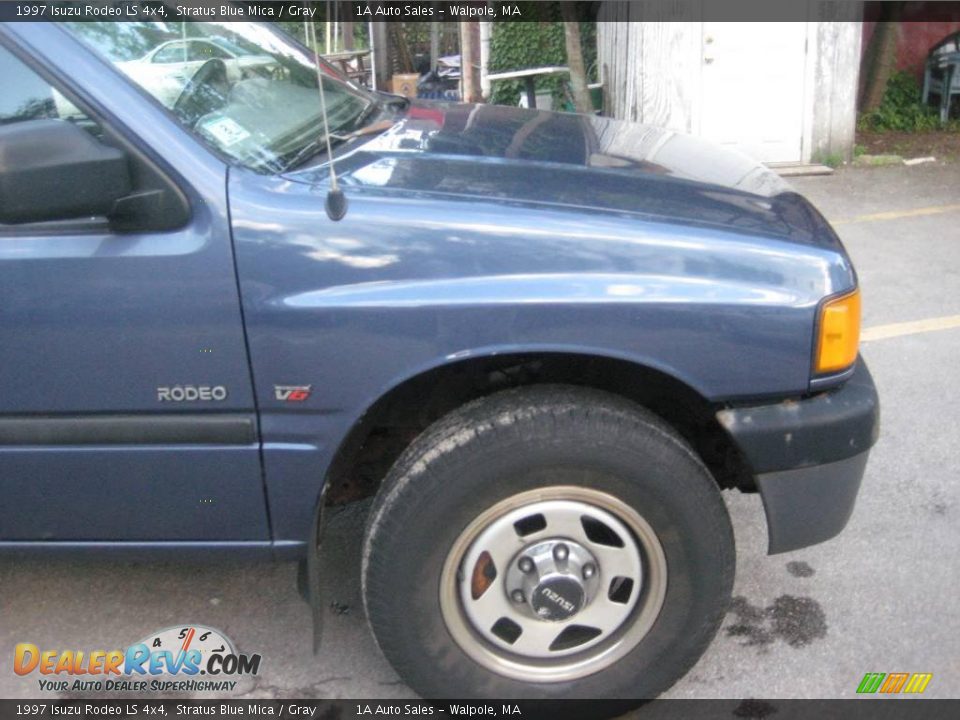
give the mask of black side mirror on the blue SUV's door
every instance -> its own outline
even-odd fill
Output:
[[[72,123],[0,125],[0,223],[106,216],[130,190],[124,153]]]

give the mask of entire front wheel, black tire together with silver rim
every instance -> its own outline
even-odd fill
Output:
[[[427,697],[655,697],[730,597],[715,482],[660,419],[606,393],[499,393],[428,428],[377,496],[364,601]]]

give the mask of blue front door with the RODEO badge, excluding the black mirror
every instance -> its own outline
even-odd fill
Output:
[[[225,167],[206,163],[219,177],[205,171],[201,186],[186,170],[200,160],[179,158],[183,174],[160,165],[48,72],[74,62],[42,60],[13,32],[0,31],[0,129],[80,125],[127,153],[135,189],[172,192],[153,229],[137,227],[136,204],[123,229],[96,217],[0,225],[0,546],[268,540]],[[80,52],[52,25],[23,33]],[[142,129],[159,133],[142,102]]]

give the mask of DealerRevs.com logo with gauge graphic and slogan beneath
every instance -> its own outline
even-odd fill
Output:
[[[242,654],[219,630],[182,625],[151,633],[126,649],[13,651],[13,671],[42,692],[232,691],[260,671],[259,654]]]

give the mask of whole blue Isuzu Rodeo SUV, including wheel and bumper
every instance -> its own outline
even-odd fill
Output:
[[[419,693],[648,698],[726,610],[722,490],[771,553],[846,524],[856,274],[748,158],[257,24],[2,26],[0,88],[0,550],[298,560],[319,618],[324,509],[372,496]]]

